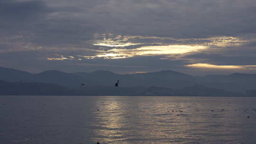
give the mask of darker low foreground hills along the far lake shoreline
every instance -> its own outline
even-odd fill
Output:
[[[226,90],[204,86],[169,89],[163,87],[85,87],[71,89],[57,84],[38,82],[0,81],[0,95],[55,95],[55,96],[244,96]],[[252,91],[255,93],[255,90]],[[252,96],[252,92],[249,96]]]

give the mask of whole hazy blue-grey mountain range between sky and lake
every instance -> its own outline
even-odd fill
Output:
[[[249,93],[253,96],[253,90],[256,90],[256,74],[192,76],[170,70],[134,74],[102,70],[73,73],[50,70],[32,74],[0,67],[0,80],[1,88],[21,90],[11,93],[2,89],[0,95],[30,95],[25,91],[32,88],[37,92],[30,91],[31,95],[237,96]],[[120,80],[120,87],[114,87],[117,80]],[[27,89],[24,85],[27,85]],[[36,86],[41,88],[41,92],[34,88]]]

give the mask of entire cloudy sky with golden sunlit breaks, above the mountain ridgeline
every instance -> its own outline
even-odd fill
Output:
[[[0,66],[256,73],[256,0],[0,0]]]

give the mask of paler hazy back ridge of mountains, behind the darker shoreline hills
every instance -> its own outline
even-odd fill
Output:
[[[81,83],[91,89],[110,87],[120,80],[120,87],[163,87],[183,89],[194,85],[204,85],[212,89],[243,92],[256,89],[256,74],[233,73],[230,75],[192,76],[182,72],[160,71],[135,74],[117,74],[110,71],[61,72],[45,71],[32,74],[15,69],[0,67],[0,80],[8,82],[53,83],[63,87],[83,90]]]

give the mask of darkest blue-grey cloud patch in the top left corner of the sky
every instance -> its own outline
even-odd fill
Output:
[[[0,0],[0,31],[7,36],[24,33],[51,11],[45,2],[39,0]]]

